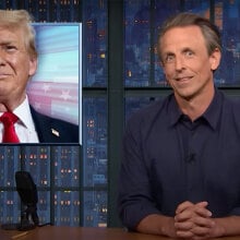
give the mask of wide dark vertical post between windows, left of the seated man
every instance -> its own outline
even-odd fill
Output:
[[[123,131],[123,1],[108,1],[108,227],[119,226],[117,182]]]

